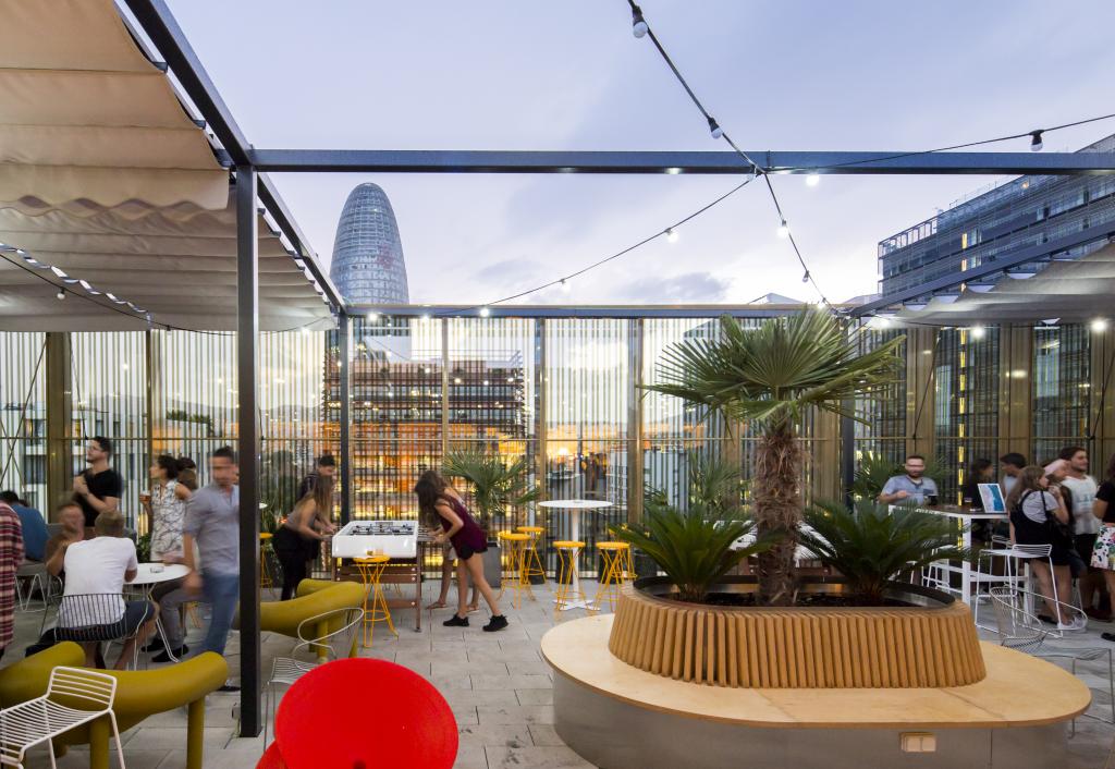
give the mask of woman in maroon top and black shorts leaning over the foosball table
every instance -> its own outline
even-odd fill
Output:
[[[507,618],[500,613],[500,604],[492,587],[484,578],[481,554],[487,550],[487,538],[468,513],[464,500],[449,483],[433,470],[427,470],[415,484],[418,511],[427,527],[440,529],[434,537],[438,545],[452,542],[457,552],[457,613],[446,619],[446,627],[468,626],[468,579],[479,589],[492,609],[492,618],[484,631],[493,633],[507,626]]]

